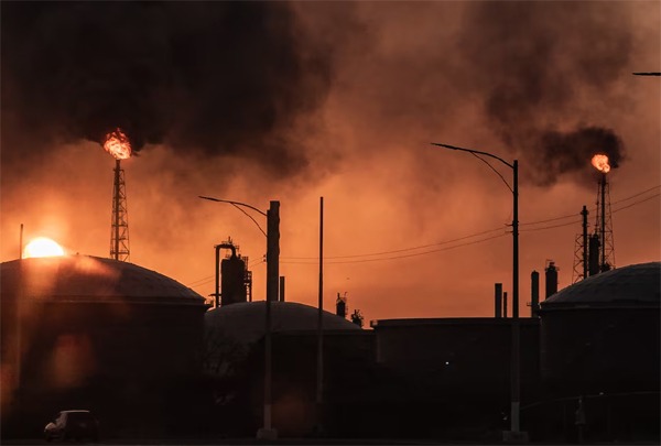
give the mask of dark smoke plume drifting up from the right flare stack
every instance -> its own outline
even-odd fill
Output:
[[[615,83],[629,75],[631,26],[608,2],[475,2],[459,39],[465,69],[488,122],[523,159],[525,178],[583,183],[595,153],[625,160],[614,130],[594,122],[620,107]],[[609,127],[609,126],[606,126]],[[574,128],[561,132],[557,128]]]

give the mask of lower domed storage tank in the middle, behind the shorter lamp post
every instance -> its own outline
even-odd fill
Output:
[[[315,422],[318,308],[271,302],[272,423],[282,436],[303,436]],[[224,435],[253,435],[262,423],[266,301],[236,303],[205,314],[205,371],[212,392],[215,428]],[[371,361],[370,330],[324,311],[324,385],[340,400],[350,384],[336,385]],[[361,362],[362,361],[362,362]],[[339,366],[342,365],[342,366]],[[356,380],[356,382],[359,382]],[[335,387],[334,387],[335,385]],[[335,401],[337,404],[337,401]]]

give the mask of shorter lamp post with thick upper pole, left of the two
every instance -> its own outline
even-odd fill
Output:
[[[267,300],[266,300],[266,316],[264,316],[264,407],[263,407],[263,426],[258,431],[257,436],[263,439],[274,439],[278,437],[278,432],[271,426],[271,383],[273,381],[271,363],[271,302],[278,301],[279,289],[279,265],[280,265],[280,202],[271,202],[269,210],[266,213],[247,205],[246,203],[232,202],[229,199],[219,199],[213,197],[199,196],[199,198],[210,202],[227,203],[243,214],[240,207],[247,207],[260,215],[267,217]],[[249,214],[246,214],[257,227],[264,233],[263,229]]]

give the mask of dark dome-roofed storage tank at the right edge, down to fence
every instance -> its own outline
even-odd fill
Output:
[[[541,303],[542,378],[567,394],[658,391],[661,262],[592,275]]]

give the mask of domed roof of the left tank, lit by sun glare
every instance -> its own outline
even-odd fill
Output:
[[[155,271],[91,255],[31,258],[0,263],[1,294],[48,301],[159,300],[204,304],[204,297]],[[22,281],[20,281],[22,278]]]

